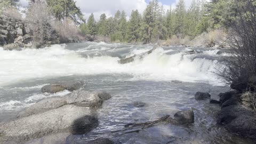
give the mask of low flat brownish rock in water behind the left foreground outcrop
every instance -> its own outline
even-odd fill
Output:
[[[74,91],[80,89],[84,85],[83,82],[67,81],[57,82],[51,85],[45,85],[42,87],[42,92],[56,93],[64,90]]]

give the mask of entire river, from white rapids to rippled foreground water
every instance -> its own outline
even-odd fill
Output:
[[[97,137],[120,143],[253,143],[237,138],[216,125],[220,107],[196,101],[197,91],[209,92],[212,99],[229,91],[214,75],[228,54],[217,49],[161,47],[143,59],[121,65],[118,60],[147,52],[154,45],[70,43],[45,49],[4,51],[0,47],[0,123],[14,119],[34,103],[70,93],[41,92],[41,87],[58,81],[83,81],[88,91],[112,95],[98,110],[99,126],[85,135],[68,135],[66,143],[83,143]],[[191,50],[199,54],[184,53]],[[133,102],[145,102],[137,108]],[[193,109],[195,123],[187,126],[158,124],[139,133],[113,133],[128,123],[154,121],[179,110]],[[37,139],[35,141],[39,141]],[[33,142],[32,142],[33,143]]]

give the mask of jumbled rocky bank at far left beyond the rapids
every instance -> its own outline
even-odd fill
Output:
[[[0,17],[0,46],[4,50],[21,50],[22,48],[42,48],[51,44],[77,42],[76,39],[65,38],[49,24],[45,29],[43,41],[34,41],[33,31],[29,23],[22,19]]]

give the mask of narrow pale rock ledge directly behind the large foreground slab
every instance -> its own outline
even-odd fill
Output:
[[[26,110],[19,113],[17,117],[21,118],[34,114],[44,113],[45,111],[59,108],[64,105],[67,105],[66,99],[64,98],[45,99],[28,107]]]

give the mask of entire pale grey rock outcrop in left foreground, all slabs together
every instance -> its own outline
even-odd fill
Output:
[[[62,98],[42,100],[22,111],[18,119],[0,124],[0,143],[28,141],[58,132],[87,133],[98,125],[94,108],[109,95],[76,90]]]

